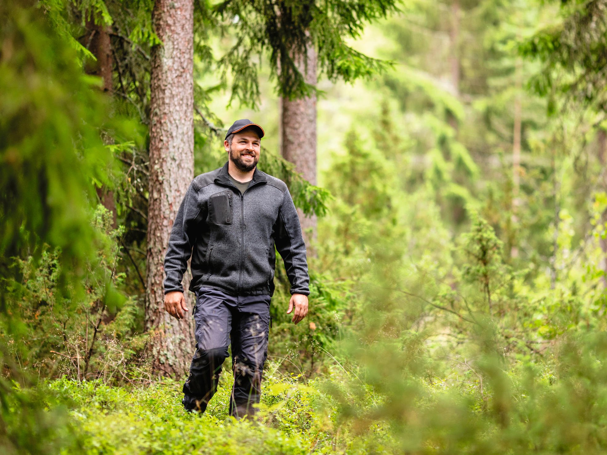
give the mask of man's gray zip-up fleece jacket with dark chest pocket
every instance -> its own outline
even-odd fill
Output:
[[[206,286],[232,295],[272,295],[274,246],[291,294],[309,295],[305,243],[287,185],[256,169],[240,194],[226,163],[194,178],[181,201],[164,258],[164,293],[183,292],[191,256],[190,291]]]

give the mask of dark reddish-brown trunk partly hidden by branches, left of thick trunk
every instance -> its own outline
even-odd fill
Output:
[[[100,76],[103,80],[101,87],[103,92],[112,93],[112,70],[114,62],[112,60],[112,42],[110,41],[110,27],[108,25],[97,25],[93,19],[87,19],[87,35],[84,37],[88,49],[97,58],[97,61],[88,61],[86,64],[87,74]],[[108,143],[108,138],[103,138],[104,143]],[[101,204],[112,214],[112,225],[117,227],[116,204],[114,203],[114,192],[106,187],[97,188],[97,196]]]

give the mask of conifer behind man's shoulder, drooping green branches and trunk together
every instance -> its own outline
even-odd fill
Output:
[[[317,77],[351,82],[383,69],[384,62],[357,52],[345,40],[393,10],[394,0],[226,0],[217,6],[220,16],[238,26],[237,44],[220,61],[239,68],[232,97],[256,103],[258,66],[251,56],[268,52],[282,98],[282,155],[310,183],[316,183]],[[302,227],[313,230],[315,218],[299,213]]]

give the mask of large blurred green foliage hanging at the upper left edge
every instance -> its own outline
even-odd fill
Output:
[[[106,183],[110,163],[97,133],[103,103],[38,11],[0,8],[0,271],[10,276],[9,258],[41,241],[61,249],[60,280],[77,282],[98,241],[92,180]]]

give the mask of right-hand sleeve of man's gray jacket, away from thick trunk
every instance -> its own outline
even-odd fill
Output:
[[[285,261],[285,270],[291,283],[291,294],[310,295],[304,237],[288,189],[283,196],[274,226],[274,243]]]

